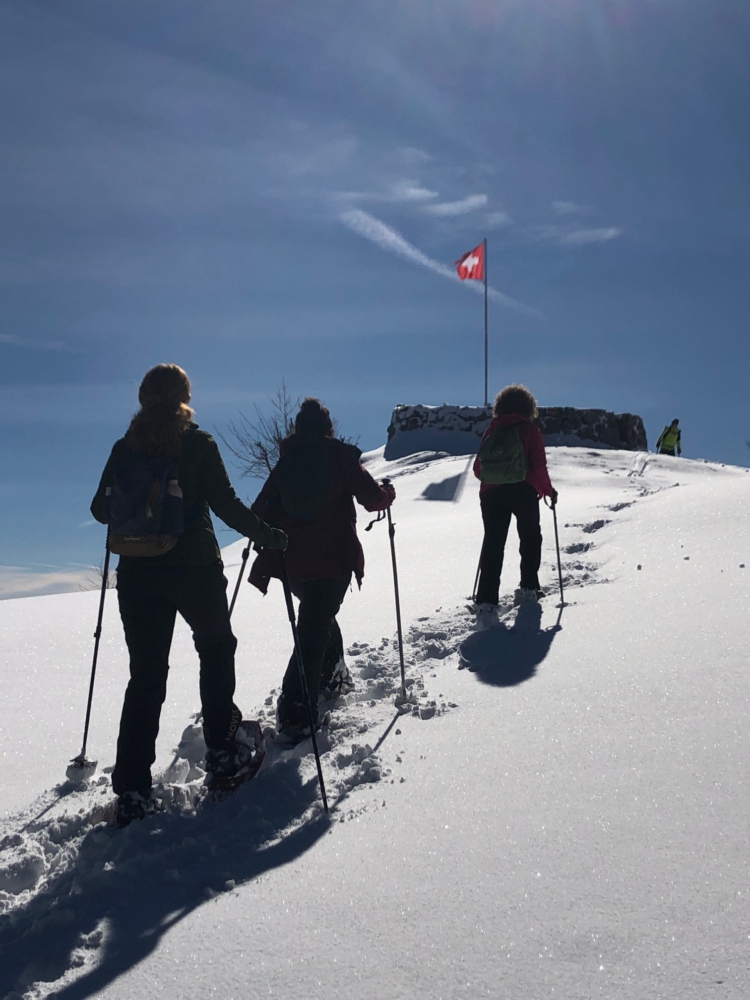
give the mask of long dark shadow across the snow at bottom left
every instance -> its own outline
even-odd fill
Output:
[[[281,761],[197,815],[170,811],[124,830],[90,830],[72,866],[3,918],[0,997],[16,1000],[34,982],[89,967],[54,994],[85,1000],[147,958],[198,906],[308,851],[330,822],[322,811],[300,822],[318,784],[304,781],[299,765]],[[64,849],[64,822],[45,823],[42,835],[59,838]]]

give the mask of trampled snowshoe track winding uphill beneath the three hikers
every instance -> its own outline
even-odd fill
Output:
[[[424,466],[417,463],[407,466],[406,473],[398,470],[396,475],[408,475],[413,468],[421,471],[425,467],[427,463]],[[465,470],[459,477],[449,477],[447,482],[451,490],[441,492],[428,487],[425,493],[452,499],[457,493],[456,478],[461,480],[464,475]],[[619,505],[618,509],[626,506]],[[610,523],[611,519],[600,518],[565,527],[580,529],[585,536]],[[574,590],[596,578],[596,564],[583,563],[579,558],[593,545],[593,542],[573,541],[566,546],[565,551],[575,557],[564,564],[566,588]],[[550,587],[548,601],[555,599],[559,600],[559,595]],[[372,743],[377,741],[370,736],[371,742],[367,742],[370,733],[378,728],[387,733],[389,723],[394,725],[406,712],[427,720],[457,707],[445,699],[426,694],[423,674],[432,669],[433,661],[441,663],[458,654],[460,667],[468,667],[480,678],[486,673],[491,678],[489,683],[501,686],[521,683],[534,675],[546,657],[561,627],[562,611],[560,607],[555,625],[544,630],[540,627],[541,607],[514,608],[510,596],[501,602],[497,621],[491,627],[487,627],[486,622],[478,623],[471,607],[466,605],[421,616],[408,627],[405,636],[411,700],[399,709],[394,708],[399,693],[394,641],[383,638],[377,646],[367,642],[351,644],[347,653],[356,690],[337,699],[330,722],[319,736],[334,808],[333,820],[344,822],[356,817],[368,803],[352,805],[351,792],[362,784],[387,781],[391,774],[390,768],[373,750]],[[269,735],[277,693],[272,690],[255,713]],[[80,963],[86,965],[88,952],[93,949],[92,941],[103,940],[101,934],[91,938],[95,932],[87,929],[92,919],[97,923],[96,916],[92,918],[85,903],[92,893],[102,899],[113,897],[121,892],[123,877],[145,875],[152,883],[158,873],[157,883],[167,879],[172,888],[171,893],[166,894],[168,908],[188,906],[189,910],[185,897],[195,905],[192,890],[196,879],[198,902],[203,901],[204,895],[234,888],[256,877],[260,869],[255,865],[249,870],[244,866],[232,871],[225,867],[217,876],[217,866],[231,867],[235,853],[250,846],[264,852],[269,845],[286,840],[302,826],[319,822],[321,808],[315,792],[311,742],[283,750],[269,738],[268,746],[268,757],[255,787],[238,792],[237,801],[231,808],[229,803],[222,803],[220,812],[206,800],[205,772],[201,767],[205,744],[196,721],[185,729],[174,760],[157,778],[155,797],[164,811],[149,817],[143,824],[122,832],[101,828],[103,823],[111,824],[114,814],[114,797],[106,774],[84,782],[82,788],[66,782],[22,815],[6,822],[0,840],[0,906],[11,916],[9,926],[15,945],[11,976],[14,972],[17,974],[14,986],[28,986],[33,983],[33,978],[28,980],[29,975],[38,974],[33,956],[38,945],[36,928],[40,923],[49,928],[48,956],[56,950],[51,944],[55,940],[53,928],[57,928],[58,933],[62,931],[57,949],[60,957],[55,969],[63,971],[54,976],[55,981],[65,980],[65,954],[72,956],[74,969],[79,969]],[[287,804],[293,803],[296,808],[291,813],[285,810],[279,813],[278,807],[270,806],[274,795],[286,798]],[[218,835],[218,830],[223,833]],[[206,852],[216,859],[209,870],[201,860]],[[80,896],[84,899],[79,899]],[[164,900],[163,891],[159,897]],[[57,927],[59,921],[55,919],[63,900],[67,901],[62,911],[64,930]],[[76,902],[81,910],[80,921],[70,919],[71,906]],[[161,908],[157,907],[157,912],[162,912]],[[103,916],[100,914],[98,920]],[[70,939],[69,928],[74,925],[83,942],[80,945]],[[0,945],[2,943],[0,938]],[[24,947],[27,943],[28,953]],[[48,957],[46,962],[45,969],[51,969],[52,959]],[[50,975],[45,971],[44,978]]]

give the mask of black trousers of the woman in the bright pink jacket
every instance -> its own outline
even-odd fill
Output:
[[[493,486],[491,490],[485,490],[481,494],[480,503],[484,542],[479,563],[477,603],[498,603],[505,542],[512,515],[516,518],[520,541],[520,586],[537,590],[542,562],[542,531],[539,526],[539,498],[536,490],[531,483],[526,482]]]

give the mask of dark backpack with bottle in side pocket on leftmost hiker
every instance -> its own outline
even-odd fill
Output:
[[[183,532],[177,463],[127,449],[109,491],[109,548],[120,556],[160,556]]]

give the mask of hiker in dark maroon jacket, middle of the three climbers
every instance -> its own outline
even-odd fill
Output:
[[[362,585],[364,553],[357,538],[354,498],[368,511],[385,510],[396,495],[379,486],[360,464],[359,448],[334,437],[328,409],[305,399],[293,433],[281,443],[280,458],[253,504],[258,516],[289,537],[286,568],[299,598],[297,629],[305,677],[317,721],[318,696],[333,698],[352,690],[336,615],[351,583]],[[281,576],[278,556],[263,551],[253,563],[250,583],[262,593]],[[309,735],[307,706],[292,652],[277,704],[279,732],[290,742]]]

